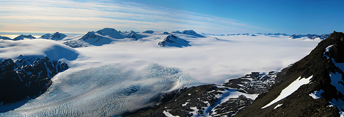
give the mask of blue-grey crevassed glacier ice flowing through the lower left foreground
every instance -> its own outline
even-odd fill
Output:
[[[0,105],[0,117],[120,116],[156,104],[162,93],[173,88],[199,85],[177,68],[154,63],[140,70],[109,64],[66,71],[57,74],[52,81],[39,97]]]

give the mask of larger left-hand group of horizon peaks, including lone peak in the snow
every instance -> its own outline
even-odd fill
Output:
[[[182,32],[175,31],[175,32],[162,32],[162,31],[152,31],[152,30],[146,30],[142,33],[134,32],[134,31],[124,31],[120,32],[113,28],[103,28],[98,31],[89,31],[86,34],[82,36],[71,36],[66,35],[63,33],[55,32],[55,33],[47,33],[42,36],[40,36],[37,39],[49,39],[54,40],[60,43],[63,43],[67,46],[70,46],[72,48],[78,48],[78,47],[87,47],[90,45],[94,46],[101,46],[104,44],[109,44],[113,41],[123,41],[123,40],[130,40],[130,41],[147,41],[146,39],[142,39],[144,37],[150,36],[149,34],[165,34],[167,35],[164,40],[157,43],[160,47],[166,47],[166,46],[174,46],[174,47],[182,47],[182,46],[191,46],[188,44],[186,40],[179,38],[175,35],[170,35],[170,33],[178,33],[178,34],[185,34],[190,35],[190,37],[204,37],[200,34],[197,34],[193,30],[184,30]],[[31,35],[20,35],[18,37],[15,37],[14,39],[10,39],[8,37],[0,37],[0,39],[3,40],[28,40],[28,39],[36,39],[35,37]]]

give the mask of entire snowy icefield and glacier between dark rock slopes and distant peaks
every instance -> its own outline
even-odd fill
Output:
[[[81,48],[46,39],[0,40],[1,59],[48,56],[70,67],[53,77],[41,96],[0,105],[0,116],[120,116],[154,105],[161,93],[180,87],[220,85],[253,71],[279,71],[303,58],[320,41],[282,35],[197,37],[172,33],[191,45],[179,48],[158,46],[168,36],[160,31],[139,34],[144,36],[137,41],[124,38]]]

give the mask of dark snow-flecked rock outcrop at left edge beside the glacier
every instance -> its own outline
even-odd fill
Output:
[[[0,63],[0,103],[13,103],[43,94],[51,85],[51,78],[68,69],[64,62],[48,57],[3,59]]]

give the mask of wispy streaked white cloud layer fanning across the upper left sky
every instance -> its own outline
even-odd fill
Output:
[[[234,19],[116,0],[14,0],[1,4],[2,32],[85,33],[104,27],[224,34],[265,30]]]

